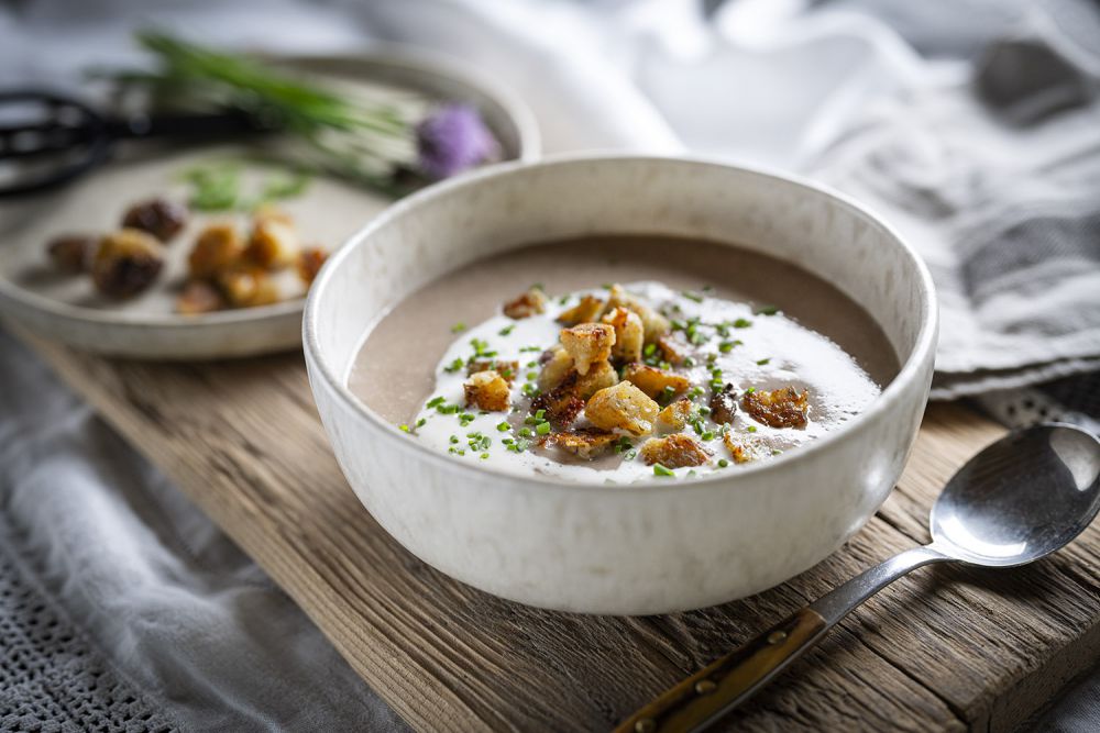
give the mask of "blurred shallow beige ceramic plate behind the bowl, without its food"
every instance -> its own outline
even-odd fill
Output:
[[[387,48],[355,56],[280,58],[323,75],[356,93],[405,107],[468,101],[482,112],[508,159],[538,155],[538,131],[527,108],[510,92],[461,69],[449,59]],[[195,234],[233,214],[195,213],[167,247],[165,273],[147,292],[122,303],[100,297],[86,276],[62,276],[46,260],[45,243],[64,233],[97,234],[118,226],[125,209],[166,195],[186,200],[180,173],[195,165],[239,162],[243,146],[191,147],[117,160],[77,184],[0,207],[0,315],[35,333],[102,354],[139,358],[222,358],[296,347],[304,299],[274,306],[180,315],[174,304]],[[263,164],[243,165],[244,188],[271,174]],[[391,200],[349,184],[315,178],[306,193],[279,204],[302,241],[328,249],[382,211]],[[240,215],[242,221],[244,215]]]

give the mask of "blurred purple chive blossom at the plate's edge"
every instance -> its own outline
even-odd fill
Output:
[[[497,153],[496,138],[469,104],[448,104],[416,127],[420,170],[440,179],[462,173]]]

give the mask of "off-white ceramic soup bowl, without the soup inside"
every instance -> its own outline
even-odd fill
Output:
[[[901,370],[864,413],[779,458],[632,486],[494,473],[428,449],[348,389],[367,327],[417,288],[494,253],[594,233],[701,237],[795,263],[872,314]],[[485,168],[395,204],[324,266],[304,341],[340,466],[409,552],[522,603],[648,614],[780,584],[870,519],[916,435],[936,325],[927,269],[843,196],[703,160],[603,156]]]

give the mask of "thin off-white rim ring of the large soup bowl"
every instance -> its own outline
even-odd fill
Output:
[[[917,276],[916,285],[924,311],[924,315],[921,320],[921,326],[917,331],[916,341],[909,357],[905,358],[901,368],[898,370],[898,374],[890,381],[890,384],[887,385],[886,389],[883,389],[875,398],[866,410],[842,424],[837,430],[828,432],[807,445],[801,445],[798,451],[784,454],[776,460],[743,466],[736,471],[695,477],[690,481],[659,482],[656,480],[639,480],[632,484],[608,484],[606,481],[573,480],[538,474],[532,474],[531,476],[514,475],[499,470],[493,470],[481,466],[480,464],[463,462],[454,458],[453,456],[433,451],[417,441],[410,441],[407,433],[398,430],[396,425],[389,424],[373,408],[363,402],[363,400],[351,391],[348,387],[346,379],[341,378],[340,375],[337,375],[333,371],[330,364],[328,364],[324,359],[320,347],[320,341],[317,335],[320,323],[319,302],[323,297],[329,280],[334,277],[334,273],[340,268],[341,263],[350,257],[351,253],[356,247],[363,246],[363,243],[367,241],[377,230],[389,225],[392,221],[405,215],[410,210],[430,206],[430,203],[436,199],[449,196],[452,191],[462,188],[476,187],[486,179],[521,176],[525,171],[531,169],[546,169],[558,166],[602,162],[612,164],[614,164],[614,162],[656,164],[674,163],[689,164],[693,166],[728,168],[777,180],[783,184],[794,184],[795,186],[800,186],[816,193],[822,193],[832,198],[840,206],[847,207],[856,214],[882,229],[887,234],[893,237],[894,242],[902,248],[904,254],[910,257],[915,266]],[[862,304],[860,303],[860,306]],[[912,247],[912,245],[910,245],[909,242],[902,237],[893,226],[887,223],[870,208],[857,202],[854,198],[842,193],[827,185],[820,184],[798,175],[791,175],[785,171],[728,163],[718,158],[705,156],[585,152],[551,155],[536,163],[510,160],[492,166],[485,166],[472,173],[463,174],[455,178],[429,186],[387,208],[381,214],[367,222],[362,229],[351,235],[351,237],[343,245],[341,245],[340,248],[332,256],[330,256],[321,267],[321,270],[318,273],[306,299],[306,310],[301,321],[301,343],[307,364],[312,367],[309,370],[311,375],[310,379],[314,379],[314,375],[323,379],[326,386],[332,390],[342,408],[350,409],[356,420],[365,420],[372,429],[377,429],[377,432],[384,436],[382,440],[393,441],[393,445],[398,451],[409,448],[418,458],[436,464],[444,470],[453,470],[457,474],[469,476],[471,479],[485,479],[486,477],[492,477],[496,479],[496,481],[493,482],[507,482],[510,485],[510,488],[514,489],[519,487],[522,487],[524,489],[538,487],[540,490],[552,489],[565,492],[582,491],[590,495],[593,491],[630,495],[639,491],[651,492],[675,490],[678,492],[684,492],[708,490],[715,485],[724,486],[730,482],[737,482],[738,480],[745,480],[749,477],[755,477],[761,471],[776,470],[779,467],[787,466],[792,463],[804,462],[824,451],[827,451],[834,443],[847,438],[851,433],[864,427],[873,417],[886,412],[902,399],[904,392],[908,388],[910,388],[911,382],[916,380],[924,370],[925,362],[930,358],[930,356],[935,358],[938,322],[939,306],[936,299],[935,285],[932,280],[932,274],[928,270],[927,265]],[[370,325],[371,323],[364,323],[364,329]],[[361,341],[360,347],[362,343],[363,342]],[[484,480],[482,482],[484,484]]]

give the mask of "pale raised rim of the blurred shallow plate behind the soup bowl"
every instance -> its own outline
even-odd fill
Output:
[[[506,163],[534,163],[541,157],[542,133],[535,113],[527,102],[512,89],[483,74],[462,59],[454,59],[447,54],[422,49],[400,43],[377,42],[360,51],[344,53],[267,53],[257,54],[276,64],[360,64],[374,67],[398,68],[425,76],[443,77],[451,81],[476,89],[505,112],[515,126],[517,157]],[[426,187],[428,188],[428,187]],[[48,196],[48,195],[47,195]],[[388,210],[388,208],[387,208]],[[384,212],[383,212],[384,213]],[[380,214],[381,215],[381,214]],[[343,244],[350,244],[358,236],[356,231]],[[12,314],[25,322],[24,313],[32,318],[51,319],[66,326],[81,327],[87,325],[109,326],[120,332],[141,332],[146,330],[165,330],[174,334],[188,331],[208,331],[219,326],[272,322],[279,319],[298,318],[305,312],[306,297],[290,298],[268,306],[242,308],[233,310],[204,313],[200,318],[179,313],[143,313],[117,311],[111,309],[88,308],[43,296],[33,290],[20,287],[11,278],[0,275],[0,313],[3,307],[10,307]],[[22,311],[22,312],[20,312]]]

